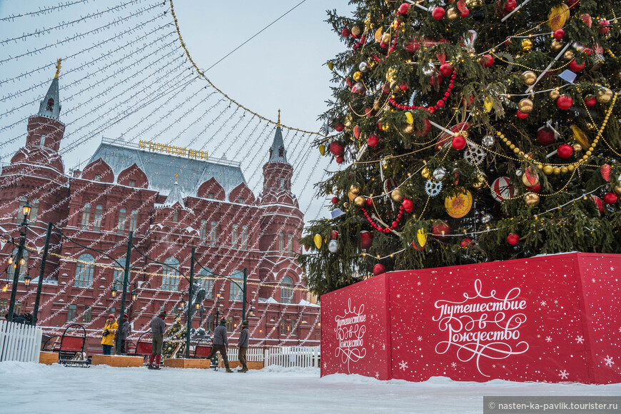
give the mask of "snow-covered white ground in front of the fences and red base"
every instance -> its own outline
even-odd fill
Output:
[[[9,413],[483,413],[483,395],[621,395],[621,384],[380,381],[316,368],[249,373],[0,363]]]

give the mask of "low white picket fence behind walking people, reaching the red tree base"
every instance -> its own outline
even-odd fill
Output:
[[[239,359],[238,348],[228,348],[228,360]],[[248,348],[248,362],[263,362],[264,367],[281,365],[282,367],[319,368],[320,350],[318,346],[281,346],[277,348]]]

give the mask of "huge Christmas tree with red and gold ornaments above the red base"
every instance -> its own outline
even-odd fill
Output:
[[[402,269],[621,253],[621,4],[352,0],[316,144],[314,293]]]

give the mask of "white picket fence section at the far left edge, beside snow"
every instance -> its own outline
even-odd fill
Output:
[[[0,320],[0,361],[39,362],[41,328]]]

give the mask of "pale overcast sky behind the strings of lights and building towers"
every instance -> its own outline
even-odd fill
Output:
[[[77,1],[0,0],[0,19]],[[39,99],[54,77],[54,62],[63,58],[60,99],[66,133],[61,155],[66,171],[84,168],[104,136],[146,139],[241,161],[248,183],[258,193],[273,130],[253,129],[247,122],[250,117],[240,118],[242,112],[234,113],[233,108],[220,111],[218,94],[209,95],[213,90],[206,88],[206,81],[194,79],[196,74],[181,56],[170,12],[163,14],[169,8],[165,2],[84,0],[60,11],[0,21],[0,161],[10,161],[24,145],[26,119],[38,111]],[[207,69],[298,3],[176,0],[175,10],[194,61]],[[108,11],[118,4],[126,6]],[[326,9],[348,14],[351,6],[345,0],[306,0],[207,76],[261,116],[276,121],[280,108],[283,124],[318,131],[317,117],[330,99],[331,74],[325,61],[343,51],[339,36],[325,22]],[[59,29],[28,36],[56,26]],[[86,32],[92,33],[82,36]],[[39,51],[26,53],[34,50]],[[11,80],[19,75],[24,76]],[[211,121],[213,126],[208,125]],[[293,186],[303,211],[314,193],[312,184],[327,167],[326,158],[319,161],[318,151],[310,151],[312,139],[285,133],[288,160],[304,178]],[[307,219],[321,208],[310,210]]]

